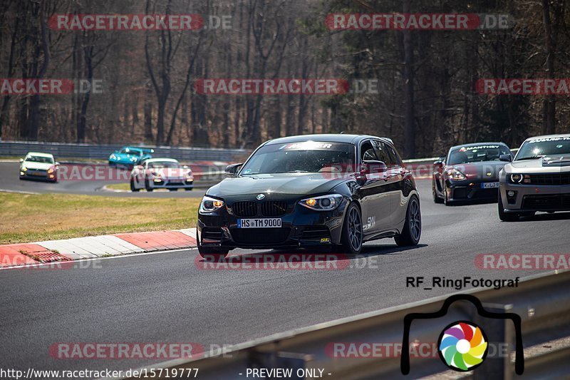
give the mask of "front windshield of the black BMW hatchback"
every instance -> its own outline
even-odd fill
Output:
[[[259,148],[240,174],[346,172],[353,168],[354,158],[354,145],[349,143],[271,144]]]

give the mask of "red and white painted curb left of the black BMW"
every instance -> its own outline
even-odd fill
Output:
[[[196,229],[0,245],[0,268],[196,247]]]

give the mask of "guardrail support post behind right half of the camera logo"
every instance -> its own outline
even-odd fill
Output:
[[[485,310],[494,313],[507,313],[512,304],[483,304]],[[507,319],[488,319],[476,314],[472,319],[479,324],[493,344],[489,344],[487,358],[473,371],[474,380],[512,380],[511,352],[514,344],[514,327]],[[489,343],[489,342],[488,342]]]

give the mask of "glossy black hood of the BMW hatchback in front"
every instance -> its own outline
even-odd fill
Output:
[[[276,193],[284,195],[312,195],[328,192],[339,183],[354,178],[345,175],[335,178],[332,173],[279,173],[247,175],[226,178],[207,191],[208,195],[226,197],[232,195]]]

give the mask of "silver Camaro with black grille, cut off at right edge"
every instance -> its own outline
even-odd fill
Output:
[[[499,218],[570,211],[570,134],[527,138],[499,173]]]

